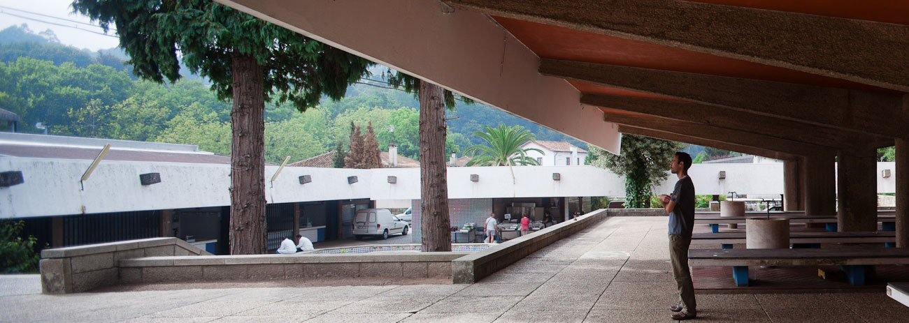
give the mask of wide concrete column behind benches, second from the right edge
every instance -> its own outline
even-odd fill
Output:
[[[877,230],[877,150],[841,150],[837,160],[838,230]]]

